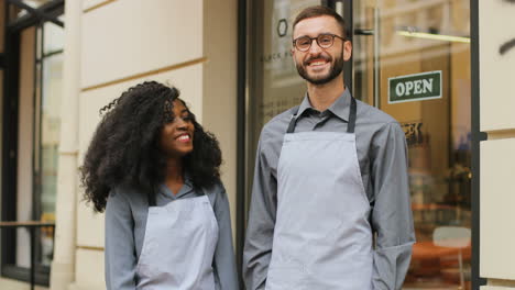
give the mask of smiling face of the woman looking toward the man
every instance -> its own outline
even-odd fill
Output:
[[[173,102],[173,120],[161,131],[160,147],[167,157],[182,158],[190,153],[194,138],[191,113],[179,100]]]

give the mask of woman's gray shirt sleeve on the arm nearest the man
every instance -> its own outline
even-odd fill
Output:
[[[222,191],[217,196],[213,209],[219,232],[213,258],[216,289],[238,290],[238,272],[232,247],[231,214],[223,187]]]

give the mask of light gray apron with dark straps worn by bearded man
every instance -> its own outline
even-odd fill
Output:
[[[277,166],[266,290],[372,289],[370,204],[355,148],[355,107],[352,98],[347,133],[294,133],[292,118]]]

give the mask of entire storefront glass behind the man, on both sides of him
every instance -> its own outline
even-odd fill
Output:
[[[352,7],[355,98],[406,133],[417,243],[403,289],[470,289],[471,71],[468,0],[249,1],[248,174],[263,125],[298,104],[305,81],[289,49],[305,7]],[[349,83],[348,83],[349,85]],[[248,189],[250,201],[250,188]],[[249,205],[249,204],[246,204]]]

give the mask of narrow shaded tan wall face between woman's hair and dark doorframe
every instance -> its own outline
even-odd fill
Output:
[[[235,236],[238,1],[204,2],[204,125],[220,141],[222,181]],[[240,192],[243,194],[243,192]]]

